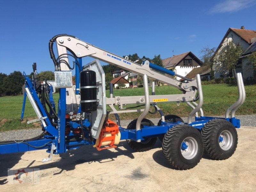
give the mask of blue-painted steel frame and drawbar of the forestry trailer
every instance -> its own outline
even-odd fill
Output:
[[[82,64],[82,61],[80,60],[80,64]],[[25,84],[26,88],[28,88],[35,99],[38,108],[40,109],[43,116],[47,116],[46,112],[38,98],[38,95],[36,93],[34,82],[31,82],[28,76],[24,74],[25,76]],[[33,80],[34,81],[34,80]],[[76,75],[76,81],[79,82],[79,75]],[[79,87],[79,84],[77,84],[77,87]],[[32,150],[40,150],[40,149],[47,149],[47,152],[51,151],[52,144],[56,145],[56,150],[54,154],[61,154],[65,153],[67,150],[75,149],[84,145],[94,145],[95,140],[88,141],[86,139],[80,140],[80,141],[67,141],[68,139],[65,138],[65,127],[66,124],[68,124],[72,128],[76,128],[79,126],[79,122],[73,122],[73,121],[67,121],[66,119],[66,89],[61,88],[60,89],[60,99],[58,102],[58,119],[61,119],[60,125],[54,127],[51,124],[51,121],[49,118],[46,118],[45,121],[47,122],[47,126],[44,128],[46,132],[48,132],[47,135],[44,135],[44,138],[38,139],[38,140],[32,140],[32,141],[15,141],[10,144],[2,144],[0,145],[0,154],[8,154],[8,153],[17,153],[17,152],[25,152],[25,151],[32,151]],[[79,94],[79,92],[76,92],[76,94]],[[51,94],[52,95],[52,92]],[[24,101],[23,101],[23,108],[21,113],[21,119],[23,119],[24,111],[25,111],[25,102],[26,102],[27,94],[24,94]],[[51,100],[53,100],[52,96],[50,96]],[[52,102],[53,107],[54,101]],[[79,109],[80,110],[80,109]],[[220,117],[195,117],[195,121],[188,124],[199,131],[203,128],[204,124],[209,122],[213,119],[226,119],[227,121],[231,122],[234,127],[240,128],[240,120],[236,119],[235,117],[232,118],[220,118]],[[136,134],[136,129],[128,130],[126,128],[119,127],[119,132],[121,133],[121,139],[120,140],[141,140],[143,141],[145,138],[150,137],[159,137],[163,136],[170,128],[177,124],[183,124],[181,122],[178,123],[166,123],[162,122],[161,126],[143,126],[143,129],[141,129],[138,134]],[[185,123],[187,124],[187,123]],[[86,127],[90,126],[90,123],[88,120],[83,121],[83,125]],[[73,138],[74,135],[70,134],[68,137]]]

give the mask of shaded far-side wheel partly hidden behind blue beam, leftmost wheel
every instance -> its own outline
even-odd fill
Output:
[[[127,129],[136,129],[136,123],[138,119],[134,119],[129,125],[127,126]],[[143,129],[143,126],[154,126],[152,121],[148,119],[142,119],[140,128]],[[148,151],[153,148],[153,146],[156,143],[157,138],[147,138],[144,141],[137,142],[133,140],[126,140],[128,145],[133,148],[137,152],[143,152],[143,151]]]

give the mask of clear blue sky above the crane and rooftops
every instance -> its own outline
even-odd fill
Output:
[[[38,72],[53,71],[48,43],[64,33],[119,56],[200,58],[229,27],[256,30],[255,8],[256,0],[1,0],[0,72],[30,74],[33,62]]]

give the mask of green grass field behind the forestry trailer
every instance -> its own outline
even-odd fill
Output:
[[[151,92],[151,88],[149,90]],[[256,85],[245,86],[246,100],[244,104],[236,111],[237,115],[256,114]],[[226,110],[238,98],[237,86],[230,86],[227,84],[210,84],[203,85],[204,104],[203,110],[205,116],[223,116]],[[171,86],[156,87],[156,95],[161,94],[179,94],[180,91]],[[109,97],[109,90],[106,92]],[[115,96],[139,96],[144,95],[143,88],[134,89],[117,89],[114,90]],[[54,100],[57,103],[59,94],[54,94]],[[26,101],[24,121],[20,122],[20,115],[22,110],[23,96],[6,96],[0,97],[0,132],[16,129],[28,129],[38,127],[40,124],[27,124],[28,120],[36,119],[36,114],[32,108],[29,100]],[[158,106],[167,114],[174,114],[181,117],[188,116],[191,108],[185,103],[158,103]],[[120,114],[121,120],[138,118],[138,113],[123,113]],[[147,118],[160,118],[159,114],[148,114]],[[110,119],[114,116],[110,115]]]

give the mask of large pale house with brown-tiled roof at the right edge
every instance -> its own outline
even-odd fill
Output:
[[[216,69],[220,65],[220,63],[216,62],[217,57],[219,57],[219,54],[226,50],[226,47],[230,42],[233,42],[235,45],[239,44],[243,47],[245,50],[244,54],[240,57],[240,60],[238,61],[240,65],[235,68],[236,73],[241,72],[243,78],[246,80],[248,77],[253,76],[253,70],[252,67],[248,66],[248,56],[255,51],[254,43],[256,38],[256,31],[254,30],[247,30],[242,26],[240,29],[236,28],[229,28],[223,39],[221,40],[218,48],[216,49],[214,60],[215,60],[215,72],[214,76],[215,78],[220,77],[220,72],[218,72]],[[228,74],[228,72],[226,73]]]

